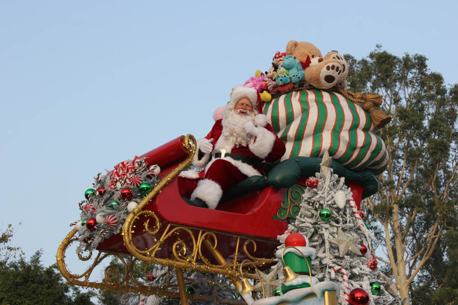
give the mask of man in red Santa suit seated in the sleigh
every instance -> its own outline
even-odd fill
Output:
[[[255,88],[233,89],[223,118],[197,141],[192,164],[205,169],[184,171],[178,177],[180,194],[186,202],[214,209],[224,191],[247,177],[263,175],[265,162],[283,156],[283,142],[260,112],[261,100]]]

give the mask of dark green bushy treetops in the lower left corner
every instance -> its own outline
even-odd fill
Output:
[[[0,304],[93,305],[93,293],[72,287],[55,264],[44,267],[40,257],[37,251],[30,261],[21,257],[0,267]]]

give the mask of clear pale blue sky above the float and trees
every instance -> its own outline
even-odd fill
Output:
[[[292,39],[358,59],[376,44],[423,54],[458,83],[457,11],[455,1],[0,1],[2,230],[21,222],[13,243],[54,263],[94,175],[206,135],[231,88]]]

